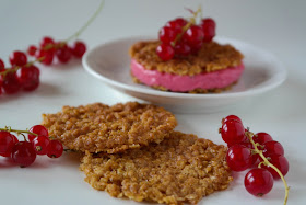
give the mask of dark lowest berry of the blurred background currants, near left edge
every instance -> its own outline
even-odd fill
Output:
[[[11,71],[5,75],[2,88],[7,94],[14,94],[20,91],[21,86],[15,71]]]

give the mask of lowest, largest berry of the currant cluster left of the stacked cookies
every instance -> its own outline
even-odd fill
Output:
[[[12,159],[20,167],[31,166],[36,159],[36,152],[28,141],[19,141],[12,149]]]

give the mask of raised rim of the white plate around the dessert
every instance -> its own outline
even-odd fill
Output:
[[[133,92],[138,92],[138,93],[142,93],[142,94],[150,94],[150,95],[158,95],[158,96],[167,96],[167,98],[177,98],[177,99],[231,99],[231,98],[237,98],[237,96],[249,96],[249,95],[255,95],[255,94],[260,94],[267,91],[270,91],[276,87],[279,87],[280,84],[282,84],[286,77],[287,77],[287,71],[285,69],[284,64],[272,53],[257,47],[252,44],[246,43],[244,41],[239,41],[239,39],[235,39],[235,38],[228,38],[228,37],[223,37],[223,36],[217,36],[216,37],[216,42],[217,41],[226,41],[226,42],[233,42],[233,43],[239,43],[239,44],[244,44],[246,46],[249,46],[256,50],[259,50],[260,53],[264,53],[264,55],[269,55],[269,58],[273,59],[273,62],[276,64],[278,71],[276,75],[272,76],[273,78],[269,79],[269,81],[272,81],[268,84],[266,84],[264,87],[261,88],[255,88],[255,89],[248,89],[245,91],[239,91],[239,92],[231,92],[231,93],[204,93],[204,94],[197,94],[197,93],[180,93],[180,92],[167,92],[167,91],[160,91],[160,90],[154,90],[152,88],[142,88],[142,87],[137,87],[137,84],[134,86],[129,86],[113,79],[109,79],[101,73],[98,73],[97,71],[95,71],[94,68],[92,68],[90,66],[89,62],[89,58],[91,55],[93,55],[93,53],[95,53],[96,50],[101,49],[102,47],[105,47],[107,45],[111,45],[118,42],[126,42],[126,41],[132,41],[134,39],[137,41],[141,41],[141,39],[152,39],[152,38],[156,38],[156,36],[153,35],[132,35],[132,36],[128,36],[128,37],[121,37],[121,38],[116,38],[113,41],[108,41],[108,42],[104,42],[102,44],[98,44],[96,46],[94,46],[93,48],[91,48],[90,50],[87,50],[85,53],[85,55],[82,57],[82,65],[83,68],[93,77],[102,80],[103,82],[105,82],[108,86],[113,86],[116,88],[120,88],[121,90],[129,90],[129,91],[133,91]],[[276,79],[276,80],[272,80],[272,79]],[[263,81],[267,82],[267,81]]]

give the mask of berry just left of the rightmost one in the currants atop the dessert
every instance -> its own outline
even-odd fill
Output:
[[[202,43],[203,37],[203,31],[198,25],[191,25],[184,34],[185,41],[188,43],[189,46],[191,46],[191,48],[196,48],[199,45],[202,45],[200,43]]]

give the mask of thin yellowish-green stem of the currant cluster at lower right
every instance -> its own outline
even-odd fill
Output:
[[[250,143],[252,144],[252,146],[254,146],[255,152],[258,153],[258,155],[261,157],[261,159],[263,160],[263,162],[259,163],[258,167],[260,168],[262,163],[266,164],[266,166],[269,166],[269,167],[271,167],[273,170],[275,170],[275,172],[278,172],[278,174],[281,176],[281,179],[282,179],[282,181],[283,181],[283,183],[284,183],[284,186],[285,186],[284,205],[286,205],[286,203],[287,203],[287,195],[289,195],[289,186],[287,186],[287,183],[286,183],[286,181],[285,181],[285,179],[284,179],[284,175],[282,174],[282,172],[281,172],[275,166],[273,166],[273,164],[263,156],[262,151],[258,149],[258,145],[252,140],[254,134],[252,134],[251,132],[249,132],[249,130],[247,130],[246,134],[247,134],[247,137],[249,138],[249,141],[250,141]]]

